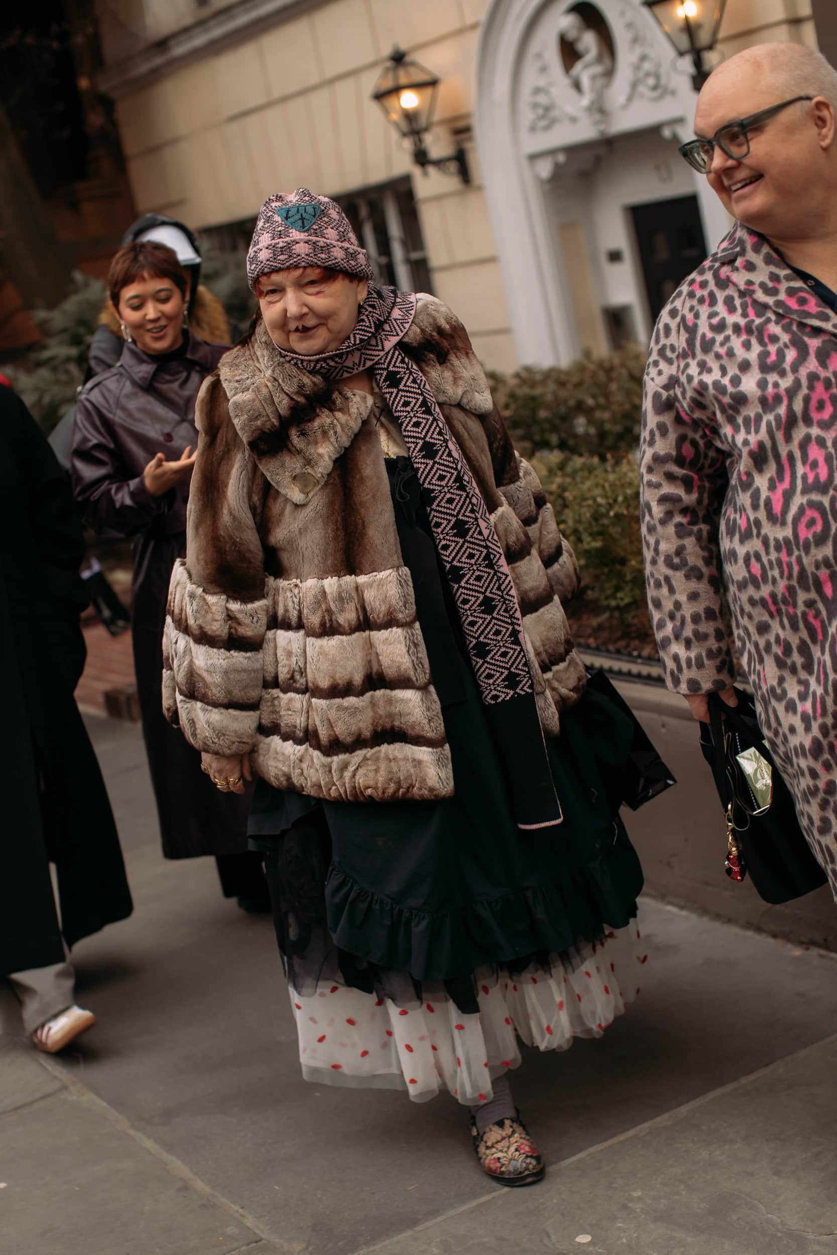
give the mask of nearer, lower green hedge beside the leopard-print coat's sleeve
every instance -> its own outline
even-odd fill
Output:
[[[636,458],[538,453],[532,466],[578,558],[587,599],[629,628],[645,612]]]

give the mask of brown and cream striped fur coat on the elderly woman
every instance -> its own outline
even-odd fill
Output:
[[[400,341],[499,537],[543,732],[585,688],[562,602],[577,566],[516,454],[468,335],[420,296]],[[450,754],[376,428],[380,397],[271,351],[264,324],[196,408],[186,560],[172,574],[163,704],[188,742],[250,754],[275,788],[333,801],[453,793]]]

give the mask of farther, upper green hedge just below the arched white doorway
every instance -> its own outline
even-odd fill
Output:
[[[570,366],[522,366],[491,376],[492,393],[521,452],[606,457],[639,444],[645,353],[585,354]]]

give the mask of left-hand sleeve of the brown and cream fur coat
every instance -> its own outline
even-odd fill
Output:
[[[267,630],[255,463],[227,420],[217,375],[203,384],[195,420],[188,565],[178,558],[169,586],[163,709],[195,749],[246,754],[256,744]]]

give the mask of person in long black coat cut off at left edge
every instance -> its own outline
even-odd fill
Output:
[[[0,433],[0,976],[35,1045],[54,1053],[94,1023],[74,1005],[68,948],[133,906],[73,697],[85,660],[87,597],[70,486],[24,403],[1,387]]]

